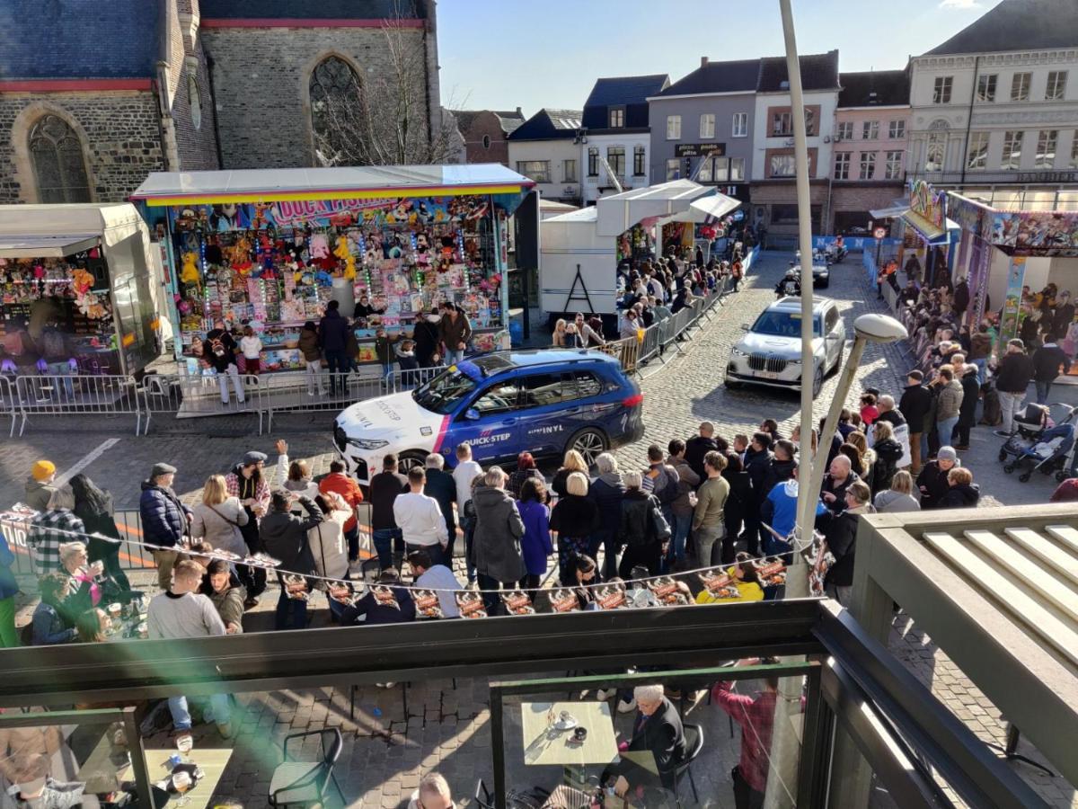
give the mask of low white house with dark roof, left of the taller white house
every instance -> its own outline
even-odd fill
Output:
[[[509,167],[536,182],[544,200],[580,204],[579,110],[541,109],[509,137]]]

